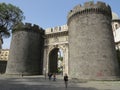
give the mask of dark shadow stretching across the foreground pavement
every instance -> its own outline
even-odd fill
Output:
[[[39,78],[4,78],[0,79],[0,90],[98,90],[91,87],[78,87],[71,84],[64,87],[64,82],[56,82]]]

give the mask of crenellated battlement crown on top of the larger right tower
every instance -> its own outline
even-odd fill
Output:
[[[91,12],[103,12],[104,14],[107,14],[112,18],[111,15],[111,7],[104,2],[98,1],[97,3],[94,3],[93,1],[86,2],[84,5],[77,5],[73,8],[73,10],[70,10],[67,18],[71,18],[75,14],[87,14]]]

